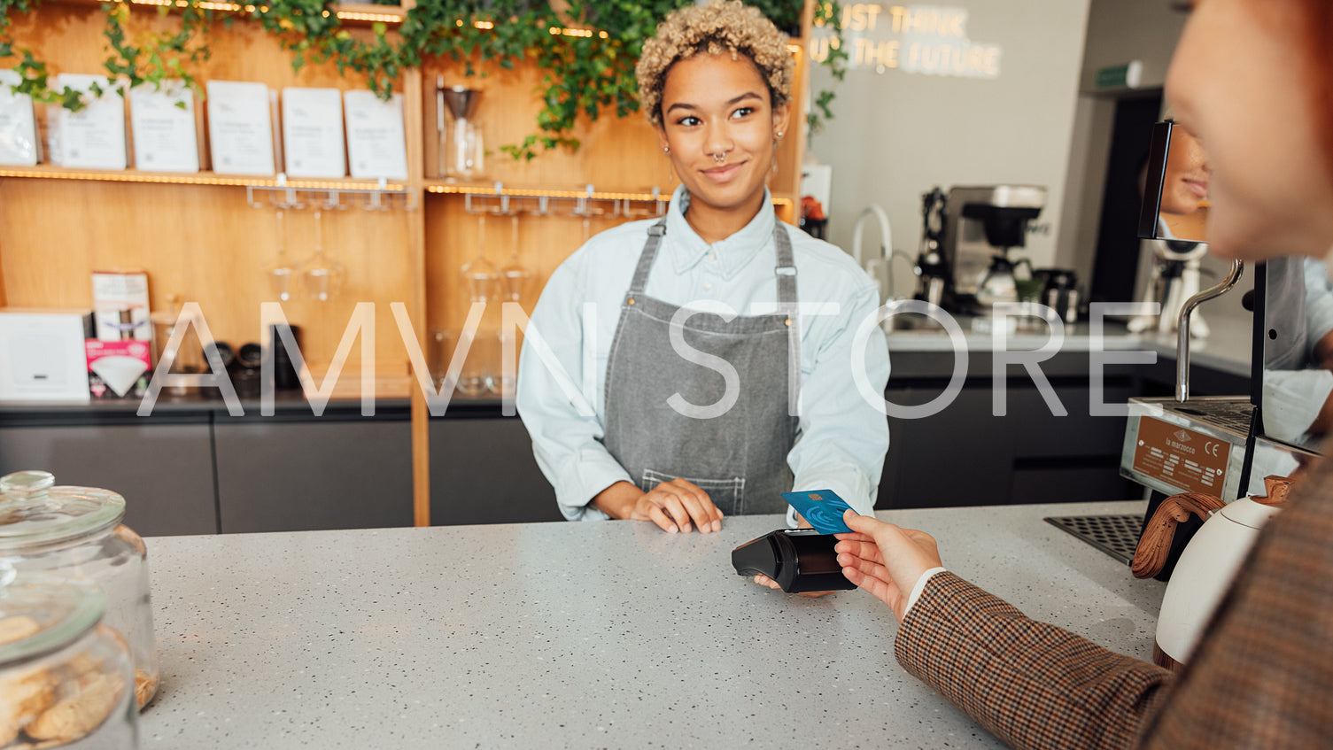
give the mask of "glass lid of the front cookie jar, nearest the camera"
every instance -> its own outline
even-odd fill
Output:
[[[105,606],[107,594],[87,578],[0,567],[0,666],[68,646]]]

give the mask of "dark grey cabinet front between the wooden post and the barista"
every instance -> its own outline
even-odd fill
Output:
[[[432,525],[561,520],[521,420],[431,420]]]

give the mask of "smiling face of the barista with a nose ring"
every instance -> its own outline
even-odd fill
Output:
[[[772,107],[754,63],[708,53],[680,60],[666,73],[661,105],[659,137],[690,206],[756,210],[788,108]]]

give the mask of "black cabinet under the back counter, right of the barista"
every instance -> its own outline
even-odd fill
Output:
[[[1042,364],[1065,416],[1052,413],[1021,369],[1010,370],[1005,414],[994,416],[990,358],[970,360],[962,390],[945,409],[918,420],[889,420],[889,452],[876,508],[1126,500],[1142,494],[1141,488],[1120,477],[1125,417],[1090,414],[1086,354],[1057,354]],[[937,374],[942,360],[894,353],[893,364],[886,393],[893,404],[930,402],[948,385],[948,378]],[[1101,402],[1124,404],[1136,388],[1128,369],[1108,368]]]

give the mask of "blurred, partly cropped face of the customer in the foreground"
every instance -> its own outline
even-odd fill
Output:
[[[1286,0],[1196,0],[1176,48],[1166,96],[1208,151],[1208,238],[1221,257],[1321,257],[1333,245],[1301,33]]]

